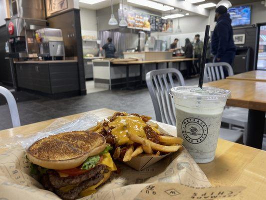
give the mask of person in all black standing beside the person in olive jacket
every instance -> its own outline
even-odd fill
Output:
[[[190,42],[189,38],[185,39],[185,46],[182,47],[183,51],[185,52],[186,58],[192,58],[193,57],[193,46]],[[196,70],[194,70],[192,60],[188,60],[187,62],[187,77],[190,77],[191,75],[196,74]]]

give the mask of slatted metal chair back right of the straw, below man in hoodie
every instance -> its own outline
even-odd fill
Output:
[[[225,78],[225,73],[223,70],[225,67],[228,71],[228,74],[234,75],[232,66],[227,62],[212,62],[205,64],[204,72],[204,82],[211,82],[215,80],[220,80]]]

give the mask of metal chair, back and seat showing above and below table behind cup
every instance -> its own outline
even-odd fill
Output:
[[[223,68],[228,71],[229,76],[234,75],[232,66],[227,62],[206,63],[204,82],[224,79]],[[239,129],[236,126],[242,127],[244,130],[244,143],[246,142],[248,113],[249,109],[246,108],[226,106],[222,117],[222,122],[228,123],[230,129]]]

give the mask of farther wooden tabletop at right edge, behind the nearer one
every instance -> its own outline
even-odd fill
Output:
[[[266,81],[266,70],[254,70],[237,75],[227,76],[227,79]]]

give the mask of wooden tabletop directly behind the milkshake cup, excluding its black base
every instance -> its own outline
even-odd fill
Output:
[[[266,111],[266,81],[221,79],[204,83],[204,86],[229,89],[232,97],[227,105]]]

